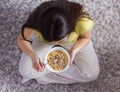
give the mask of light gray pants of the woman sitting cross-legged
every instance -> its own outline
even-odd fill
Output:
[[[71,45],[65,47],[70,48]],[[34,37],[32,46],[34,51],[44,63],[44,56],[52,45],[42,43]],[[94,52],[92,42],[76,54],[73,65],[65,72],[53,73],[46,68],[43,72],[37,72],[32,68],[31,59],[24,53],[22,54],[19,63],[19,71],[23,76],[22,83],[30,79],[36,79],[41,84],[88,82],[95,80],[100,72],[98,59]]]

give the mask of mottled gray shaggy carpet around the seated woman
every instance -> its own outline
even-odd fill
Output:
[[[93,44],[100,61],[100,76],[89,83],[21,84],[21,57],[16,37],[31,11],[44,0],[0,0],[0,92],[120,92],[120,0],[74,0],[95,21]]]

